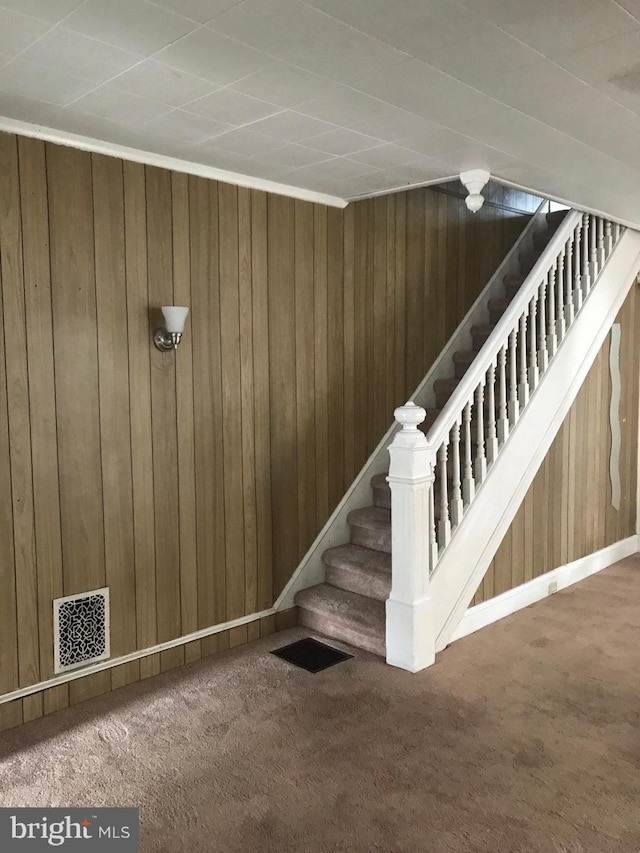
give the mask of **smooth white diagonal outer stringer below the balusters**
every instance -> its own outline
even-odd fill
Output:
[[[451,641],[639,269],[640,232],[626,229],[431,574],[436,651]]]

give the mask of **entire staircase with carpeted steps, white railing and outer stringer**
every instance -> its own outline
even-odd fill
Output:
[[[303,625],[411,672],[431,665],[639,269],[640,232],[541,205],[276,609],[295,603]]]

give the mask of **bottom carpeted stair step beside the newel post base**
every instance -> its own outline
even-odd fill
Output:
[[[301,625],[385,656],[384,602],[324,583],[301,590],[295,602]]]

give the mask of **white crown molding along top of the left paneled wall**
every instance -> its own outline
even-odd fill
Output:
[[[158,166],[161,169],[170,169],[174,172],[186,172],[188,175],[197,175],[201,178],[210,178],[214,181],[223,181],[227,184],[235,184],[239,187],[248,187],[253,190],[284,195],[288,198],[297,198],[302,201],[310,201],[315,204],[324,204],[327,207],[346,207],[349,203],[338,196],[317,193],[303,187],[293,187],[288,184],[279,184],[276,181],[267,181],[264,178],[255,178],[250,175],[242,175],[239,172],[227,172],[225,169],[216,169],[203,163],[193,163],[189,160],[180,160],[177,157],[168,157],[165,154],[156,154],[153,151],[142,151],[138,148],[129,148],[126,145],[118,145],[116,142],[108,142],[104,139],[93,139],[90,136],[82,136],[78,133],[67,133],[52,127],[44,127],[27,121],[0,116],[0,131],[17,133],[21,136],[33,136],[36,139],[44,139],[47,142],[55,142],[58,145],[67,145],[70,148],[80,148],[83,151],[94,151],[96,154],[106,154],[109,157],[119,157],[122,160],[131,160],[134,163],[144,163],[147,166]]]

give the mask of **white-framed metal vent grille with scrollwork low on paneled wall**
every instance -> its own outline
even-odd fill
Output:
[[[105,660],[109,649],[109,589],[53,602],[54,669],[66,672]]]

